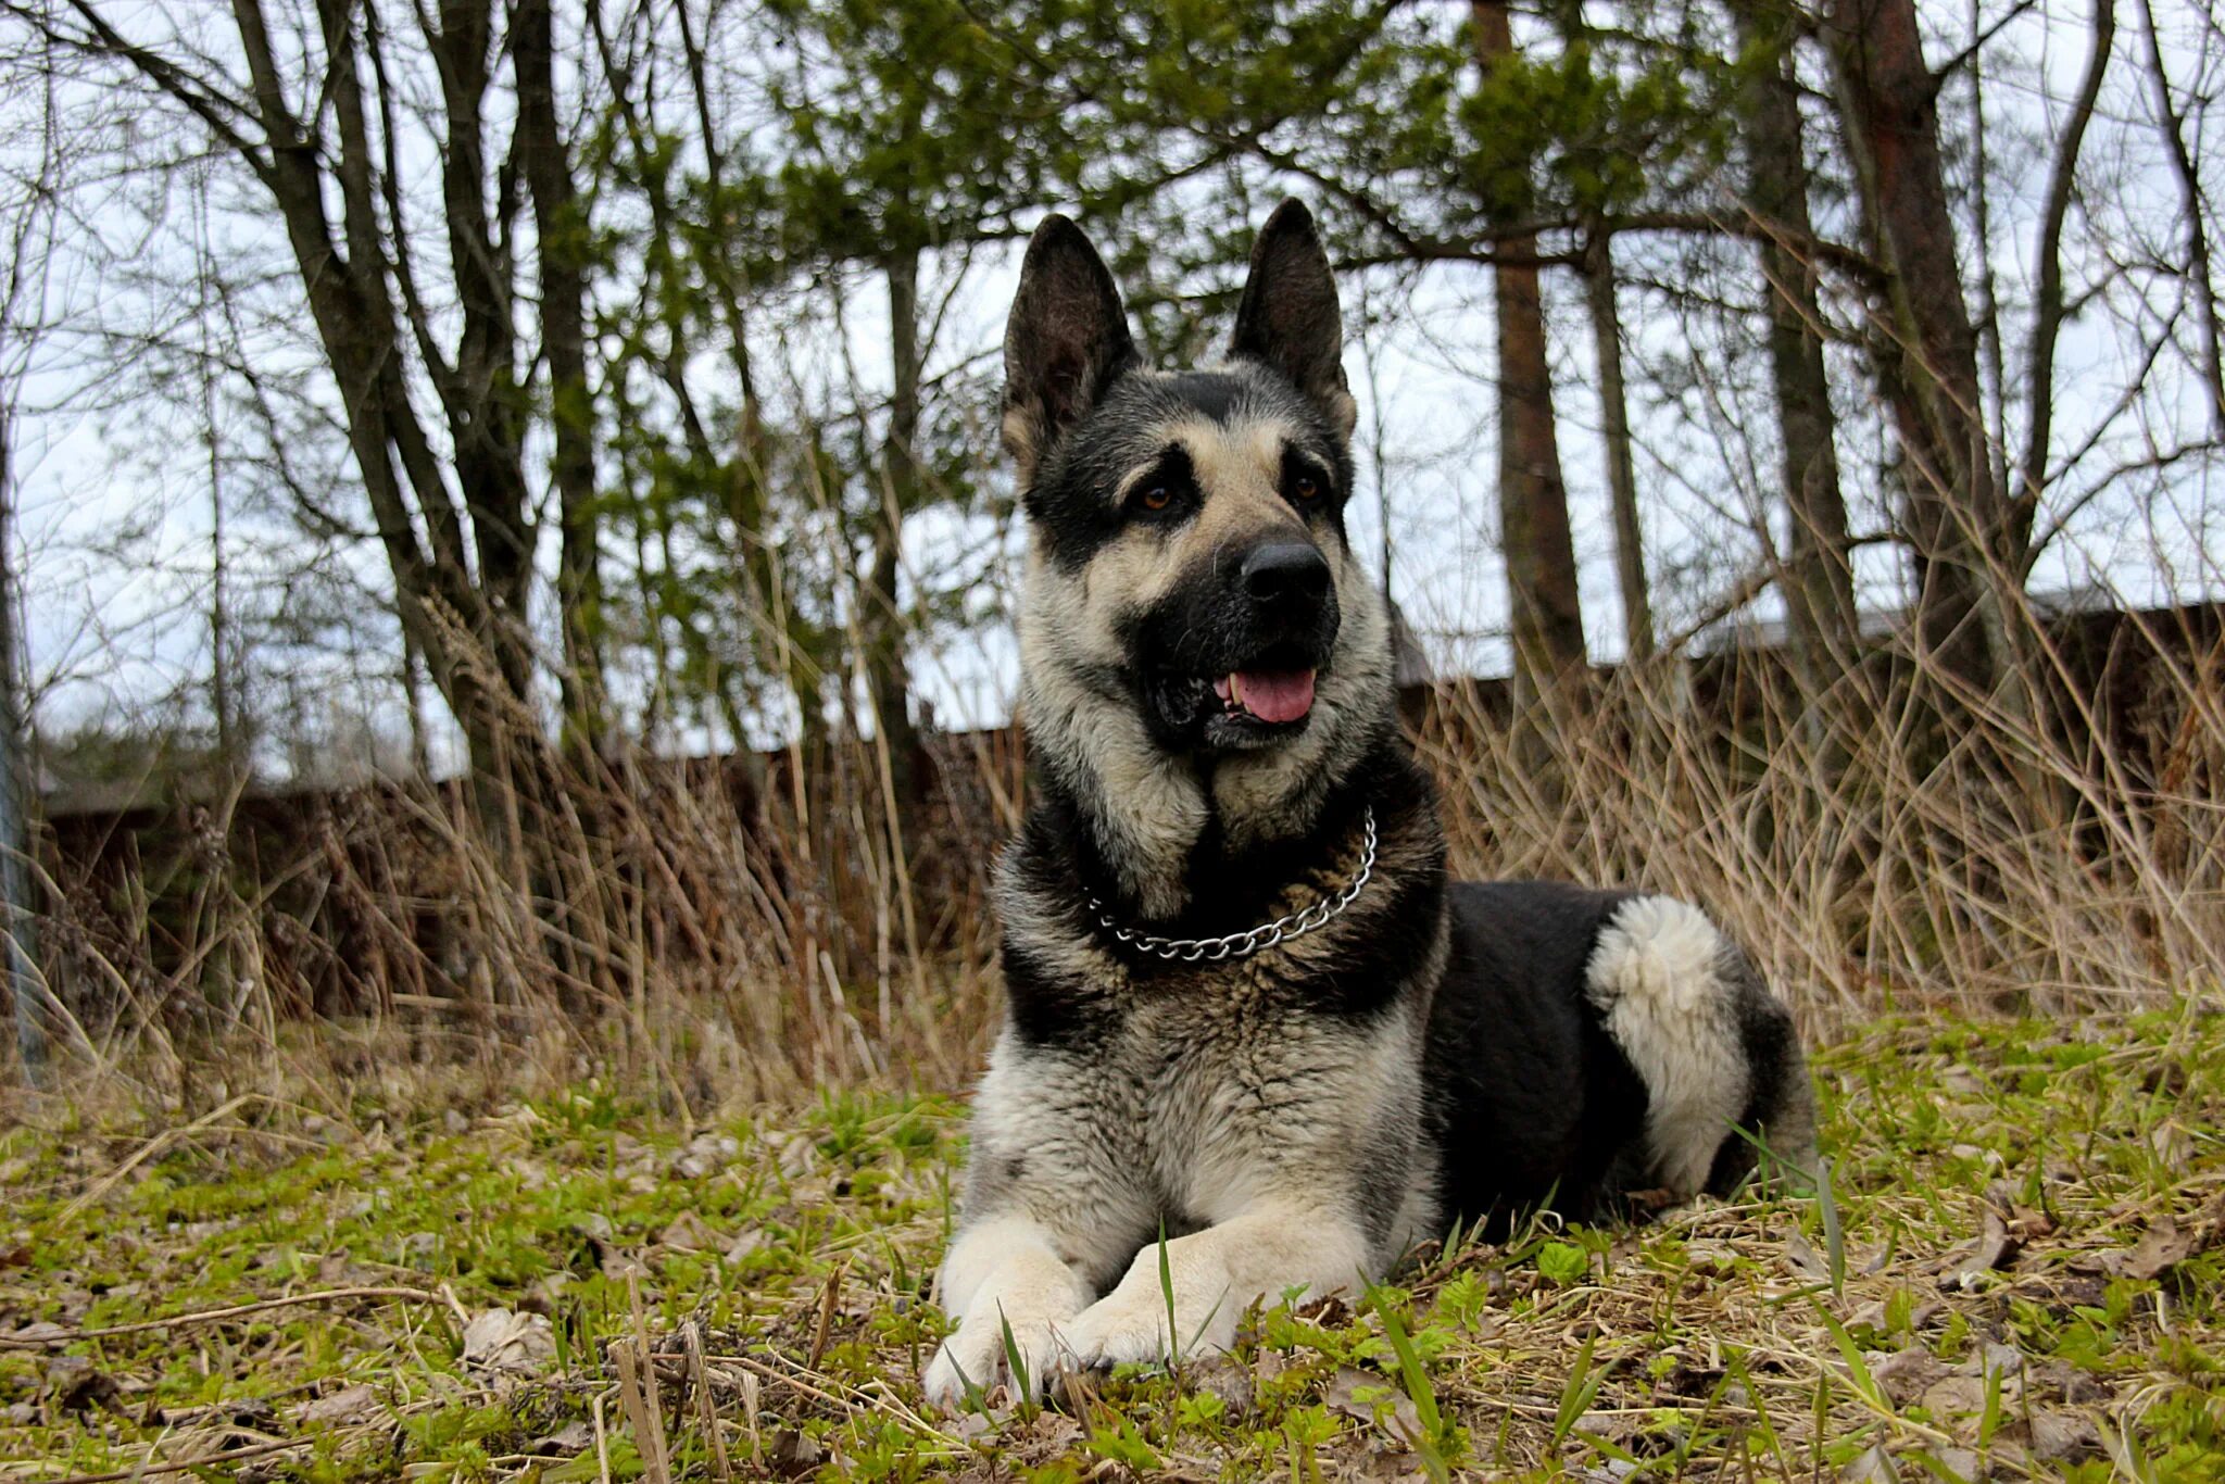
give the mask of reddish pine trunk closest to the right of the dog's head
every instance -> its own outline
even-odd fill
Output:
[[[1513,56],[1504,0],[1475,0],[1475,62],[1489,78]],[[1553,372],[1546,365],[1537,238],[1500,240],[1491,269],[1500,334],[1500,550],[1506,561],[1515,659],[1515,708],[1580,694],[1584,612],[1569,536],[1569,487],[1553,427]]]

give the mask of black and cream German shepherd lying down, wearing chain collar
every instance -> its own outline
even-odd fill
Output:
[[[1035,1391],[1226,1348],[1255,1299],[1351,1290],[1453,1219],[1609,1215],[1811,1150],[1791,1019],[1700,910],[1446,881],[1344,534],[1339,354],[1295,200],[1210,369],[1141,365],[1070,220],[1028,245],[1003,441],[1037,779],[941,1406],[1017,1382],[1012,1351]]]

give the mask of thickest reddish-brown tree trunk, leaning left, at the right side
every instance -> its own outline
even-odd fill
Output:
[[[1991,694],[2014,670],[2005,583],[2023,570],[1980,414],[1978,336],[1940,169],[1938,80],[1911,0],[1831,0],[1829,40],[1847,145],[1885,256],[1900,407],[1902,530],[1916,572],[1916,641],[1940,672]]]

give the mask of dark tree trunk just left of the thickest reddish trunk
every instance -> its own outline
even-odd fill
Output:
[[[1769,376],[1778,400],[1778,476],[1791,525],[1784,610],[1793,630],[1793,663],[1809,696],[1824,694],[1856,665],[1860,616],[1853,561],[1847,550],[1847,498],[1838,481],[1831,385],[1822,365],[1822,309],[1816,267],[1791,243],[1816,236],[1809,216],[1807,142],[1800,93],[1787,71],[1791,36],[1784,13],[1760,0],[1733,7],[1744,51],[1762,53],[1744,100],[1747,205],[1764,231],[1762,278],[1769,280]]]

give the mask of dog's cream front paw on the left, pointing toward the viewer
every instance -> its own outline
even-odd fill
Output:
[[[934,1353],[923,1386],[928,1402],[957,1411],[968,1384],[1010,1384],[1039,1395],[1061,1364],[1059,1328],[1090,1302],[1090,1286],[1052,1244],[1050,1230],[1024,1215],[968,1224],[943,1257],[943,1310],[959,1328]],[[1024,1377],[1012,1373],[1006,1328]]]

